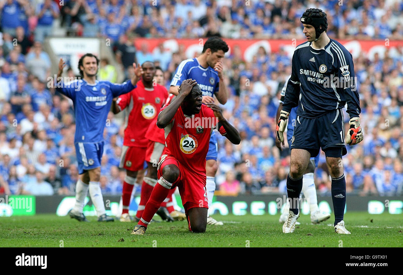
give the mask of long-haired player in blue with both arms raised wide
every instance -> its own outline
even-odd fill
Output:
[[[126,94],[135,88],[141,67],[133,63],[135,75],[131,81],[123,84],[114,84],[109,81],[96,80],[100,60],[93,54],[84,54],[78,63],[82,79],[72,83],[59,81],[66,66],[60,58],[57,74],[56,90],[71,98],[74,104],[76,117],[76,132],[74,144],[80,178],[76,184],[76,202],[69,215],[78,221],[87,221],[83,215],[83,208],[87,192],[95,206],[98,221],[113,221],[105,214],[104,199],[100,188],[101,158],[104,151],[104,128],[106,118],[112,104],[112,99]],[[56,81],[56,80],[55,80]]]

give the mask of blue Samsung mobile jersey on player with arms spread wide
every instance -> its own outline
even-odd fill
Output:
[[[58,83],[56,90],[71,98],[74,103],[76,118],[74,143],[102,142],[112,99],[134,88],[131,81],[114,84],[97,80],[95,84],[89,84],[80,79],[69,84]]]

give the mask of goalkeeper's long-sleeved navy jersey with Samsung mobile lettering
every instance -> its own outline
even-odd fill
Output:
[[[336,40],[322,49],[305,42],[295,48],[291,79],[287,84],[283,110],[299,106],[297,115],[320,117],[343,108],[357,117],[361,112],[351,54]]]

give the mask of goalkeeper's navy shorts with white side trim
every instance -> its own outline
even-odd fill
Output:
[[[325,153],[329,149],[340,149],[344,156],[347,154],[344,137],[342,109],[315,118],[297,116],[290,148],[307,150],[311,157],[317,156],[321,148]]]

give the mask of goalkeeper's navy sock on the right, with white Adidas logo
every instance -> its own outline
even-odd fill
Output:
[[[334,208],[334,225],[341,222],[346,207],[346,179],[344,174],[341,177],[332,177],[332,201]]]

